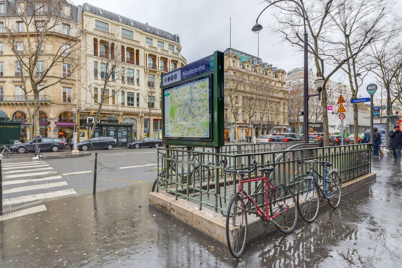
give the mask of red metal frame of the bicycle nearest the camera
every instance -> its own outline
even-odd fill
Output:
[[[260,209],[260,207],[258,207],[258,205],[254,202],[254,200],[247,194],[247,192],[242,188],[243,183],[247,183],[247,182],[255,182],[257,180],[264,180],[265,182],[265,213],[262,209]],[[269,189],[269,190],[268,190]],[[278,196],[281,196],[279,194],[279,192],[277,191],[277,188],[275,187],[275,185],[273,185],[272,181],[268,179],[268,177],[265,175],[264,177],[261,178],[255,178],[255,179],[250,179],[250,180],[242,180],[242,176],[239,179],[239,187],[238,187],[238,192],[237,194],[242,194],[243,196],[246,196],[247,199],[250,201],[250,203],[252,205],[254,205],[254,207],[256,208],[256,212],[252,212],[252,213],[256,213],[257,216],[263,216],[265,218],[265,220],[267,221],[272,221],[273,219],[275,219],[277,216],[281,215],[282,213],[284,213],[285,211],[287,211],[288,209],[290,209],[289,205],[287,205],[282,196],[281,196],[281,200],[283,201],[283,203],[285,203],[286,205],[286,209],[275,214],[272,215],[271,217],[269,216],[269,211],[268,211],[268,207],[269,207],[269,192],[271,192],[271,190],[275,190],[275,192],[277,192]],[[247,210],[246,210],[247,211]],[[250,211],[248,211],[250,212]]]

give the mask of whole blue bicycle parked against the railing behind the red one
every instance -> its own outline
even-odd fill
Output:
[[[308,177],[301,182],[297,190],[297,208],[305,221],[312,222],[318,215],[321,199],[326,198],[334,209],[338,207],[342,195],[342,180],[338,175],[338,170],[331,168],[330,162],[316,159],[299,161],[299,164],[302,163],[310,164],[310,172],[307,172]],[[324,176],[314,169],[315,164],[324,166]]]

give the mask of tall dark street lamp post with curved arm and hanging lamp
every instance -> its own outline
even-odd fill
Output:
[[[283,1],[290,1],[293,2],[295,4],[297,4],[299,6],[299,8],[301,9],[301,12],[303,14],[303,22],[304,22],[304,96],[303,96],[303,137],[304,137],[304,141],[306,143],[308,143],[308,50],[307,50],[307,29],[306,29],[306,17],[304,14],[304,10],[301,7],[301,5],[299,3],[297,3],[296,1],[293,0],[278,0],[273,2],[272,4],[269,4],[266,8],[263,9],[263,11],[261,11],[261,13],[258,15],[257,19],[256,19],[256,24],[252,27],[252,31],[254,33],[259,33],[262,29],[263,26],[260,25],[258,23],[258,18],[261,16],[261,14],[270,6],[272,6],[273,4],[277,4],[279,2],[283,2]]]

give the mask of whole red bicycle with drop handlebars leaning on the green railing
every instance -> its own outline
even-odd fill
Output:
[[[246,248],[247,237],[247,213],[260,217],[261,224],[266,227],[269,223],[275,224],[283,233],[290,233],[297,223],[297,203],[292,190],[285,184],[278,184],[269,173],[274,170],[273,166],[261,168],[264,177],[251,180],[243,180],[244,174],[252,173],[257,167],[253,159],[250,170],[228,170],[227,160],[220,160],[218,166],[224,163],[226,172],[239,174],[239,187],[236,194],[230,199],[228,214],[226,215],[226,239],[230,254],[234,258],[240,258]],[[264,180],[265,204],[258,207],[248,193],[242,188],[244,183]]]

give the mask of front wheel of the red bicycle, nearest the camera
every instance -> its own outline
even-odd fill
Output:
[[[240,258],[246,248],[247,213],[244,209],[243,197],[238,194],[233,196],[226,216],[226,240],[234,258]]]

